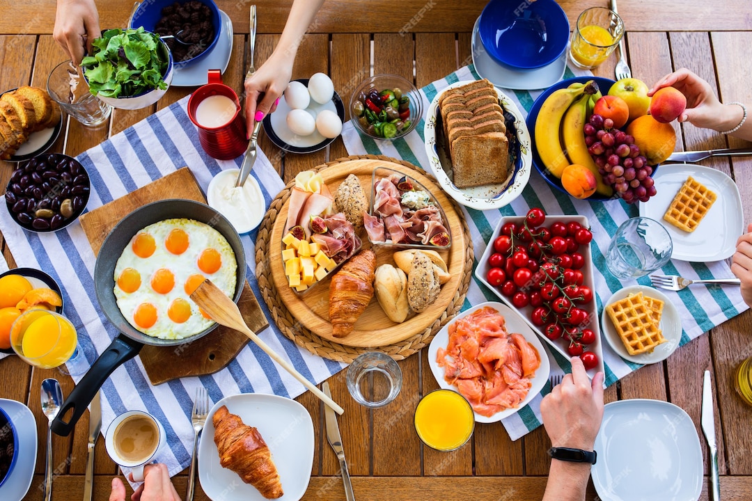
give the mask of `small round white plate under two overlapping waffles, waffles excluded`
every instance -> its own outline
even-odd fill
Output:
[[[647,287],[645,285],[632,285],[617,291],[604,303],[604,306],[623,300],[625,297],[628,297],[629,294],[639,294],[640,292],[645,297],[652,297],[653,299],[663,301],[663,312],[660,316],[658,328],[663,333],[663,337],[666,341],[656,346],[653,349],[653,352],[629,355],[629,352],[627,351],[626,346],[624,346],[619,333],[617,333],[617,329],[614,327],[614,322],[611,321],[605,307],[603,308],[603,313],[601,315],[601,332],[603,337],[605,337],[608,346],[611,346],[611,349],[613,349],[614,352],[617,352],[617,355],[624,360],[634,362],[635,364],[655,364],[656,362],[669,358],[681,342],[681,317],[679,317],[679,312],[671,300],[669,300],[669,297],[652,287]]]

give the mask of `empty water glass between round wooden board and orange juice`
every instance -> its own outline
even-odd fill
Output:
[[[362,406],[385,406],[401,389],[402,370],[389,355],[367,352],[347,367],[347,390]]]

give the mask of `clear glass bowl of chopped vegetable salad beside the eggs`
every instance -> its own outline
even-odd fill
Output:
[[[350,98],[353,125],[374,139],[390,140],[412,131],[423,114],[418,90],[399,75],[374,75]]]

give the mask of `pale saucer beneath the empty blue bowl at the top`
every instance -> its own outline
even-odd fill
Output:
[[[497,87],[515,90],[545,89],[562,79],[569,50],[565,50],[559,59],[550,65],[534,70],[515,70],[500,65],[493,60],[483,46],[481,35],[478,33],[480,20],[481,18],[478,17],[472,32],[472,64],[475,65],[475,71],[481,78],[489,80]]]

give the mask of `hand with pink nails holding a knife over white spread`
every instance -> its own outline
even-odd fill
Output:
[[[277,103],[293,74],[295,54],[272,53],[256,73],[245,79],[245,122],[247,136],[253,125],[277,109]]]

